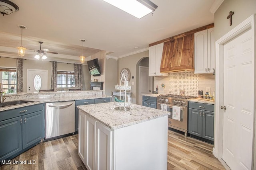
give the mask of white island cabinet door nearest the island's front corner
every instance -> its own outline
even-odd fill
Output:
[[[96,122],[96,170],[112,170],[113,131]]]

